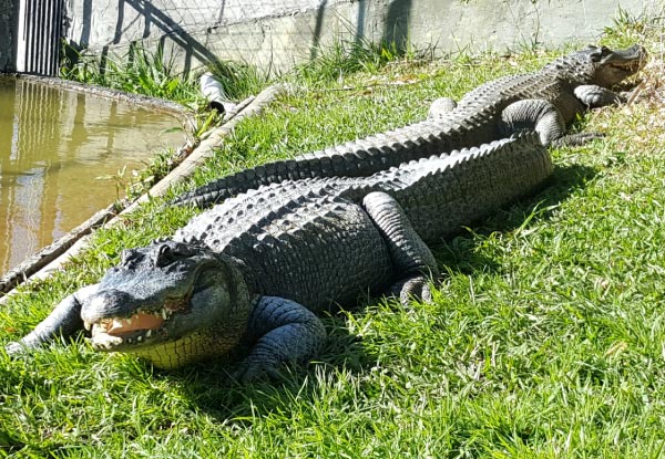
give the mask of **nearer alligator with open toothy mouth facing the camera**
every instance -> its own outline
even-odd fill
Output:
[[[318,312],[391,292],[430,298],[428,244],[534,190],[552,171],[535,134],[410,161],[370,177],[284,181],[238,195],[171,239],[123,250],[11,354],[90,331],[98,351],[157,368],[233,358],[248,380],[316,355]],[[238,355],[246,350],[244,358]]]

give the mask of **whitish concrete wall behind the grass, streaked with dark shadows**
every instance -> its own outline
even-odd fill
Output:
[[[7,1],[7,0],[0,0]],[[163,44],[185,69],[212,59],[284,71],[334,40],[396,41],[438,53],[593,42],[620,8],[657,0],[68,0],[68,39],[95,53]]]

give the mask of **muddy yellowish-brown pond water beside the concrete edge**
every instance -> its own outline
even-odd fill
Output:
[[[0,277],[117,198],[182,132],[170,115],[0,76]],[[124,186],[120,187],[122,195]]]

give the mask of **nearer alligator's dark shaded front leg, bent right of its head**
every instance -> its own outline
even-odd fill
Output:
[[[283,362],[305,361],[326,341],[324,324],[311,311],[278,296],[258,300],[247,331],[255,344],[234,374],[241,382],[274,374]]]

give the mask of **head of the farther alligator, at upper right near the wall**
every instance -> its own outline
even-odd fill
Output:
[[[625,50],[587,46],[548,64],[545,70],[581,84],[596,84],[610,88],[637,73],[647,58],[646,50],[634,44]]]

